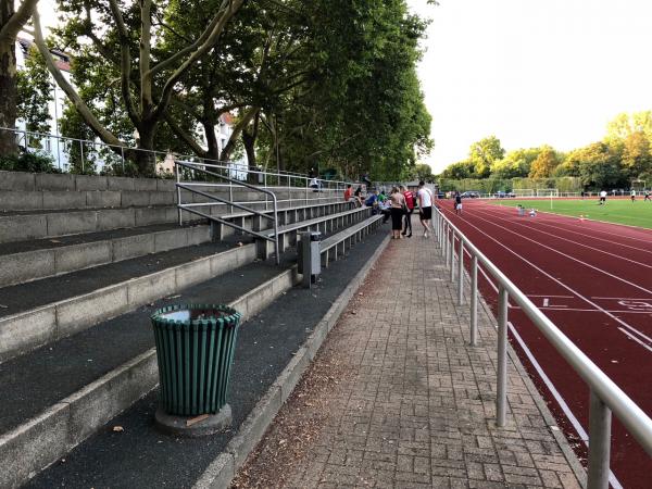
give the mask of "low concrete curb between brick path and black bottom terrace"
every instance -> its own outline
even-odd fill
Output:
[[[363,284],[388,243],[389,236],[383,240],[367,263],[339,294],[324,318],[292,356],[290,363],[278,375],[267,392],[256,403],[249,416],[247,416],[236,436],[226,446],[225,451],[209,465],[193,485],[193,489],[228,487],[238,468],[242,466],[249,454],[262,440],[281,405],[291,394],[303,372],[305,372],[305,368],[319,350],[328,331],[336,325],[349,301]]]

